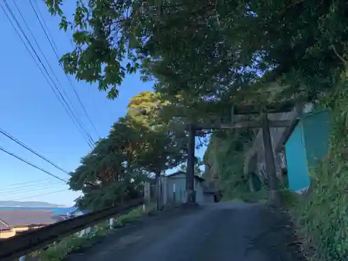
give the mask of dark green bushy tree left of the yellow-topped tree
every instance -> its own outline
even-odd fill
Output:
[[[134,161],[141,149],[136,129],[120,118],[72,173],[71,189],[83,193],[77,205],[97,209],[139,197],[139,186],[147,176]]]

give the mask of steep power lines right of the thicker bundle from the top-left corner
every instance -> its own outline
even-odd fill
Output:
[[[13,0],[13,1],[15,1],[15,0]],[[58,48],[57,48],[57,46],[56,46],[56,42],[54,41],[54,38],[52,37],[51,33],[49,32],[49,29],[48,29],[48,26],[47,26],[47,24],[46,24],[46,22],[45,22],[45,19],[44,19],[42,13],[40,12],[40,8],[38,7],[38,3],[35,1],[36,8],[38,8],[38,12],[40,13],[40,17],[41,17],[41,19],[42,19],[42,22],[45,24],[45,26],[44,26],[44,24],[42,24],[41,19],[40,19],[40,17],[39,17],[39,15],[38,15],[37,11],[35,10],[35,8],[34,8],[34,6],[33,6],[33,1],[32,1],[32,0],[29,0],[29,3],[30,3],[31,8],[33,9],[33,11],[34,11],[34,13],[35,13],[36,18],[38,19],[38,21],[39,21],[39,23],[40,23],[40,26],[41,26],[41,28],[42,28],[42,31],[44,31],[44,33],[45,33],[45,35],[46,35],[46,38],[47,38],[47,40],[49,41],[49,45],[51,45],[51,47],[52,47],[52,49],[53,49],[53,52],[54,52],[54,54],[56,55],[57,60],[59,61],[59,59],[60,59],[59,56],[60,56],[60,55],[58,54]],[[59,63],[59,64],[61,65],[61,63]],[[63,69],[63,65],[61,65],[61,68]],[[87,111],[86,111],[86,108],[85,108],[84,104],[81,102],[81,99],[80,99],[80,97],[79,97],[79,94],[77,93],[77,90],[76,90],[75,87],[72,85],[72,79],[71,79],[71,77],[68,76],[67,74],[64,74],[64,75],[65,75],[65,77],[68,79],[69,84],[70,84],[70,87],[71,87],[72,90],[74,91],[74,94],[76,95],[77,100],[79,101],[79,104],[81,105],[82,109],[84,110],[84,113],[85,113],[86,117],[88,118],[88,121],[90,122],[90,125],[92,125],[92,127],[93,127],[95,133],[97,134],[97,136],[100,136],[100,135],[98,134],[98,132],[97,132],[97,129],[95,128],[95,125],[93,124],[92,120],[90,119],[90,116],[88,115],[88,113],[87,113]]]

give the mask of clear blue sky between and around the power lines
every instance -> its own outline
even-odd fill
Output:
[[[33,1],[37,1],[42,15],[45,17],[49,31],[58,47],[58,52],[64,54],[70,51],[72,48],[70,36],[68,33],[58,30],[58,19],[49,15],[43,1]],[[7,2],[26,30],[13,5],[13,0],[7,0]],[[68,5],[70,1],[64,2],[65,5]],[[93,138],[97,140],[97,134],[93,132],[93,127],[84,116],[29,1],[18,1],[17,5],[65,88],[65,92],[77,109],[77,115],[81,116],[84,125]],[[73,10],[73,6],[65,6],[65,8],[70,12]],[[58,166],[67,171],[73,171],[79,165],[81,157],[86,155],[90,148],[68,114],[65,113],[63,106],[56,99],[52,89],[48,86],[1,9],[0,24],[3,39],[6,39],[0,41],[0,49],[3,51],[0,59],[0,128],[40,154],[45,155]],[[26,31],[26,34],[30,36],[29,31]],[[32,39],[31,41],[33,42]],[[96,85],[75,81],[74,84],[97,128],[97,132],[101,136],[106,136],[113,122],[125,114],[128,100],[131,97],[143,90],[151,90],[152,88],[152,83],[144,84],[140,81],[139,74],[128,76],[120,86],[120,96],[111,101],[106,98],[106,93],[97,90]],[[0,146],[41,168],[45,168],[54,175],[63,179],[68,178],[65,173],[58,171],[54,166],[49,165],[2,135],[0,135]],[[200,150],[198,155],[202,156],[203,150]],[[0,152],[0,166],[0,200],[40,200],[72,205],[74,198],[79,196],[79,193],[69,191],[68,186],[63,182],[59,182],[54,177],[49,177],[46,173],[42,173],[42,171],[3,152]]]

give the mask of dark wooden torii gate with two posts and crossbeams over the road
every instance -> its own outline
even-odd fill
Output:
[[[255,106],[251,105],[239,105],[232,108],[232,117],[235,115],[251,115],[260,114],[260,120],[247,120],[232,123],[213,123],[213,124],[189,124],[187,125],[187,131],[189,132],[188,143],[188,157],[187,157],[187,203],[196,203],[196,191],[194,191],[194,164],[195,164],[195,136],[196,130],[203,129],[240,129],[240,128],[260,128],[262,129],[262,140],[264,145],[264,156],[266,161],[266,171],[270,181],[270,198],[275,205],[278,205],[279,198],[276,193],[278,189],[278,182],[276,177],[276,166],[274,160],[274,153],[271,143],[271,127],[291,127],[292,120],[269,120],[269,113],[285,113],[294,109],[294,101],[277,102],[267,105],[267,109],[260,111],[255,109]]]

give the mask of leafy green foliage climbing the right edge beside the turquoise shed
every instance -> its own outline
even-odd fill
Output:
[[[313,260],[346,260],[347,242],[347,112],[346,77],[321,104],[331,109],[330,151],[310,171],[310,190],[293,209],[306,251]]]

